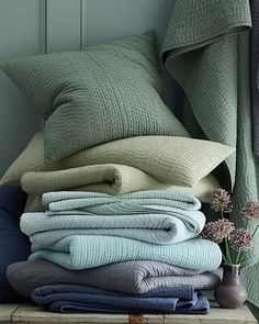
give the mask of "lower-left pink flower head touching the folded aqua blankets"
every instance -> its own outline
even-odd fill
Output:
[[[234,223],[226,219],[217,220],[215,222],[210,222],[204,226],[202,237],[215,242],[216,244],[221,244],[234,230]]]

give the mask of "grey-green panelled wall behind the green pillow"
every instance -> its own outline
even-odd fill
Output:
[[[174,0],[0,0],[0,60],[80,48],[154,29]],[[0,71],[0,176],[41,129],[36,108]]]

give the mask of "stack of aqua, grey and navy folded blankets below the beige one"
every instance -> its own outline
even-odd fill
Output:
[[[221,250],[199,238],[200,201],[174,191],[44,193],[24,213],[29,261],[9,267],[22,294],[55,312],[206,313]],[[93,288],[95,287],[95,288]]]

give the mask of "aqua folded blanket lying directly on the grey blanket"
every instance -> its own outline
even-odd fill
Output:
[[[124,237],[72,235],[41,248],[34,249],[32,245],[34,253],[30,258],[47,259],[70,270],[146,259],[210,271],[222,261],[218,245],[201,238],[158,245]]]

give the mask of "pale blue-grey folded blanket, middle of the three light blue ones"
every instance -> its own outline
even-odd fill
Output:
[[[25,213],[21,217],[21,230],[30,236],[36,248],[71,235],[110,235],[171,244],[198,237],[205,223],[205,216],[199,211],[176,212],[174,216],[165,212],[125,215],[80,214],[80,211],[71,213]],[[189,223],[181,221],[182,215],[189,219]],[[193,223],[200,220],[199,232],[189,225],[192,219]]]

